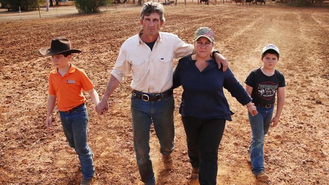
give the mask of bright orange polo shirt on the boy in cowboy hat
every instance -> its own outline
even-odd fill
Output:
[[[86,102],[82,89],[89,91],[94,88],[85,71],[71,64],[63,77],[54,69],[49,74],[49,95],[56,96],[57,108],[68,111]]]

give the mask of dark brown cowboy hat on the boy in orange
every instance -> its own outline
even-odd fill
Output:
[[[61,37],[54,38],[50,44],[50,48],[42,48],[39,52],[43,56],[59,55],[63,53],[81,53],[80,50],[71,49],[71,42],[69,39]]]

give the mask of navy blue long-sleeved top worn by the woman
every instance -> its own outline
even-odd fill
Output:
[[[200,72],[195,62],[191,56],[182,58],[174,71],[173,88],[182,85],[184,89],[179,113],[200,119],[223,118],[232,121],[223,87],[242,105],[251,102],[252,98],[230,68],[223,72],[218,69],[215,60],[210,60],[207,61],[207,68]]]

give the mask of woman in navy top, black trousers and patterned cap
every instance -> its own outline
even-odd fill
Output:
[[[180,59],[174,72],[173,88],[182,85],[184,89],[179,113],[192,164],[191,178],[198,176],[200,184],[216,184],[218,147],[226,120],[232,120],[223,87],[253,116],[257,114],[252,99],[232,71],[219,70],[210,56],[214,36],[208,27],[198,28],[194,33],[196,54]]]

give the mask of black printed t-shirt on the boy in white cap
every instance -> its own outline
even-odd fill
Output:
[[[272,76],[266,76],[261,68],[254,69],[244,81],[245,84],[253,87],[253,103],[268,105],[274,104],[275,92],[278,87],[285,86],[283,74],[275,69]]]

